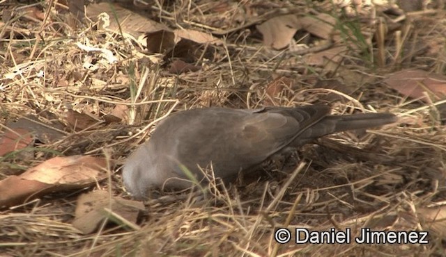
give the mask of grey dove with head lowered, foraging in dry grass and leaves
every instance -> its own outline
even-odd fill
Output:
[[[123,165],[125,188],[144,199],[149,188],[185,189],[185,167],[203,179],[199,167],[212,165],[215,177],[235,178],[270,156],[298,148],[323,135],[396,122],[390,113],[329,115],[328,106],[255,110],[202,108],[169,115],[148,142]]]

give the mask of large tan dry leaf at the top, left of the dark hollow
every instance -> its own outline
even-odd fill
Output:
[[[138,42],[138,39],[144,38],[146,33],[169,29],[164,24],[133,13],[131,10],[125,9],[116,3],[96,3],[86,7],[87,17],[95,22],[98,21],[98,15],[101,13],[107,13],[108,15],[108,17],[104,17],[104,15],[100,16],[104,24],[103,28],[114,33],[121,33],[121,26],[121,31],[124,35],[131,35]],[[119,24],[116,20],[119,21]]]

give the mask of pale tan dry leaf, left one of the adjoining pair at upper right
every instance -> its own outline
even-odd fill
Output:
[[[263,35],[263,44],[280,50],[288,47],[294,34],[300,29],[297,15],[282,15],[256,26]]]

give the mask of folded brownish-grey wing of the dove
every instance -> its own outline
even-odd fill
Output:
[[[216,176],[233,176],[283,149],[329,112],[327,106],[197,110],[176,121],[176,142],[167,143],[176,144],[174,156],[190,169],[212,160]]]

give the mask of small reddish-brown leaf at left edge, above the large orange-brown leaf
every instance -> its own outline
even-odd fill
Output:
[[[31,131],[26,128],[14,128],[12,131],[7,130],[0,137],[0,156],[4,156],[11,151],[24,149],[28,147],[33,140],[34,137]]]

